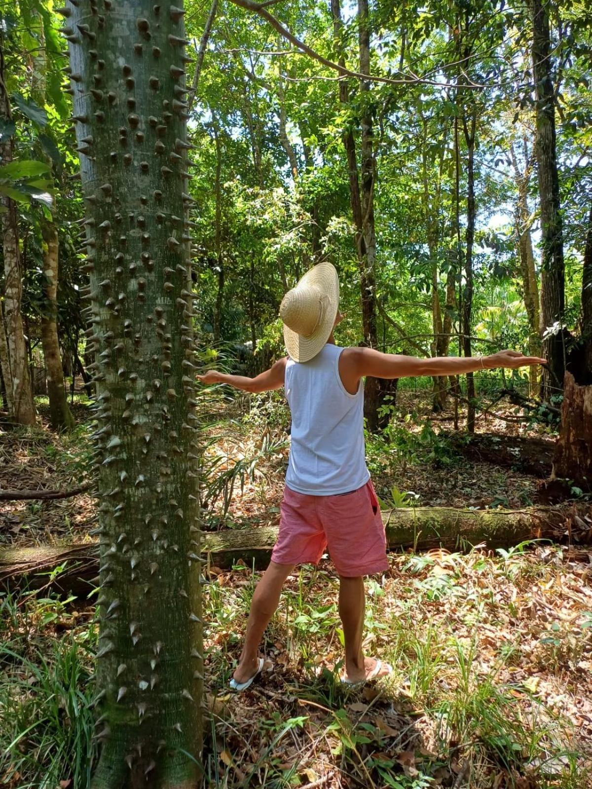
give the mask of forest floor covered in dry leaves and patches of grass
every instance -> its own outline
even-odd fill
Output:
[[[79,427],[69,436],[46,427],[0,431],[0,488],[84,482],[83,398],[75,410]],[[497,406],[502,415],[510,410]],[[279,398],[217,400],[208,413],[208,528],[276,525],[287,460]],[[403,392],[398,414],[388,436],[368,445],[385,503],[532,502],[534,477],[468,462],[440,436],[453,429],[451,412],[433,417]],[[490,415],[481,415],[478,431],[500,440],[541,433]],[[86,493],[5,502],[0,544],[83,542],[94,518]],[[227,680],[260,574],[241,563],[210,568],[204,786],[592,787],[592,550],[533,543],[392,554],[389,563],[367,582],[365,649],[392,664],[390,678],[362,690],[339,682],[338,581],[322,559],[288,579],[264,644],[266,670],[238,697],[227,694]],[[81,701],[92,693],[94,608],[48,593],[0,594],[0,787],[86,787],[92,712]]]

